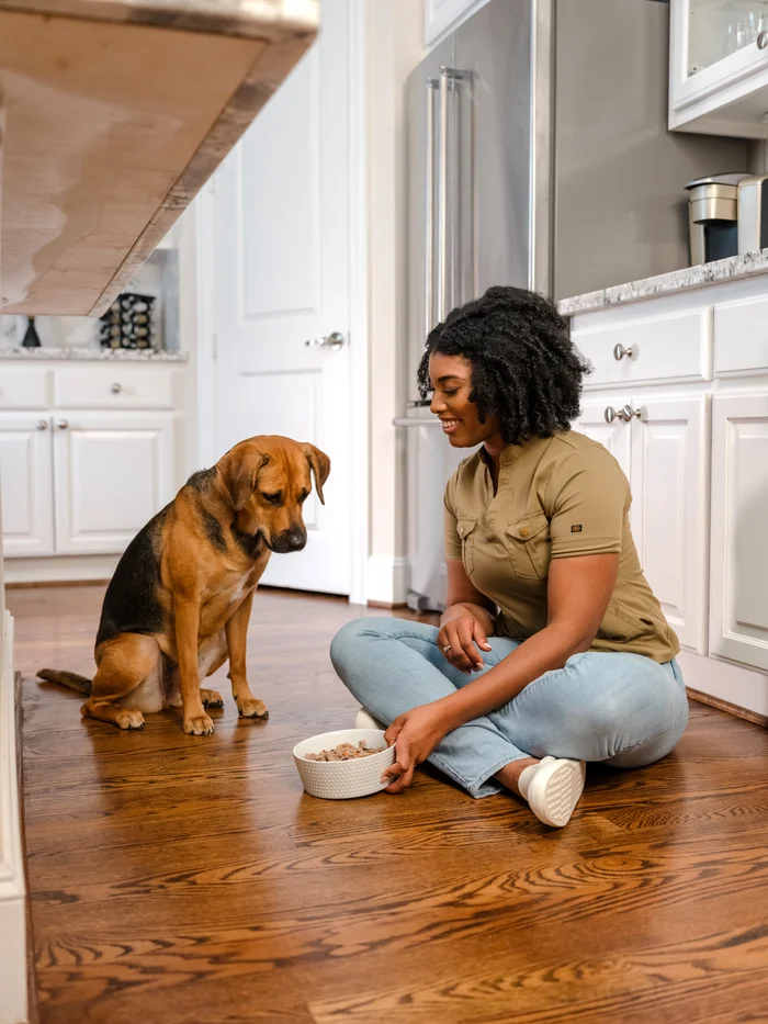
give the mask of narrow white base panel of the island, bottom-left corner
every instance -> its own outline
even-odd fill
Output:
[[[13,700],[13,619],[0,646],[0,1024],[27,1020],[26,890],[21,844]]]

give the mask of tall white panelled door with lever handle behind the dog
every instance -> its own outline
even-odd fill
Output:
[[[216,173],[216,440],[310,441],[331,460],[304,551],[263,583],[349,594],[349,0],[324,0],[318,41]],[[343,344],[307,346],[340,335]],[[363,483],[360,482],[362,486]]]

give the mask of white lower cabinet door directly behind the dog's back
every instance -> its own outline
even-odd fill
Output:
[[[171,413],[54,417],[56,551],[121,553],[173,497]]]

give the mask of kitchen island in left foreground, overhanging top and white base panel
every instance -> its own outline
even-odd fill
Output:
[[[309,47],[318,16],[318,0],[0,0],[2,312],[103,313]],[[22,1024],[26,890],[1,566],[0,1024]]]

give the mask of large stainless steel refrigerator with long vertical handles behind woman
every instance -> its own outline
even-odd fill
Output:
[[[451,449],[418,404],[429,329],[492,284],[554,299],[687,266],[694,178],[748,166],[747,143],[667,131],[659,0],[492,0],[410,75],[407,436],[414,609],[445,600]]]

